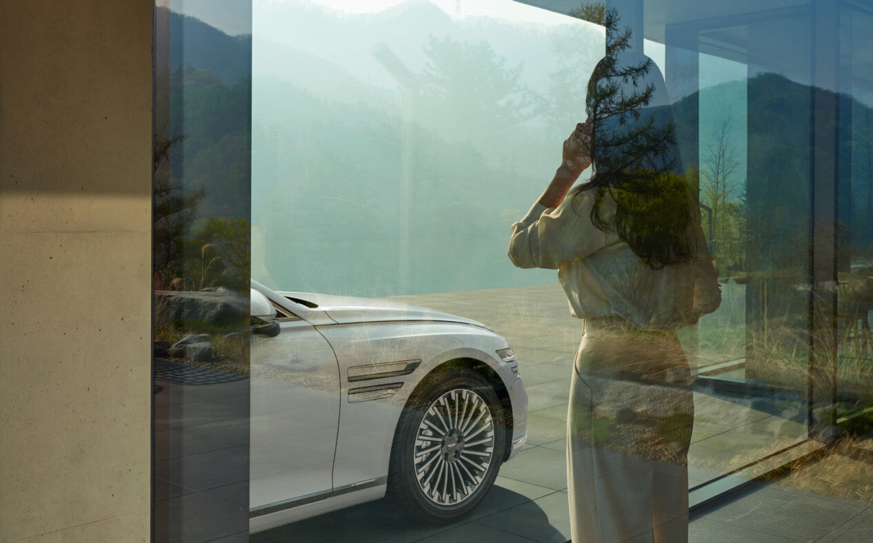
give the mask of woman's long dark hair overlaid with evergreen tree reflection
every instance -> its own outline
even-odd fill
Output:
[[[620,66],[618,53],[628,48],[631,31],[615,31],[615,13],[606,19],[607,54],[588,81],[586,98],[595,174],[574,196],[595,191],[591,222],[615,231],[653,269],[681,264],[694,256],[696,214],[671,108],[649,107],[655,86],[646,79],[660,72],[655,68],[650,76],[654,63],[644,57]],[[604,208],[607,196],[615,201],[615,213]]]

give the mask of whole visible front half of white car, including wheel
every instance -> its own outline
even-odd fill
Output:
[[[251,282],[251,533],[382,498],[458,519],[526,441],[507,341],[475,320]]]

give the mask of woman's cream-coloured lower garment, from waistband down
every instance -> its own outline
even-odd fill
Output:
[[[694,403],[675,334],[582,336],[567,416],[574,543],[688,540]]]

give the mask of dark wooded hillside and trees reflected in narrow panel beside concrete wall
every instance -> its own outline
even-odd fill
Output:
[[[228,86],[209,71],[181,65],[159,79],[168,85],[158,87],[155,100],[168,107],[169,120],[155,134],[155,288],[244,290],[251,257],[244,218],[251,213],[251,79]]]

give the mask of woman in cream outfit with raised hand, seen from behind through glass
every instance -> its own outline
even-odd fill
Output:
[[[642,10],[629,3],[627,24],[614,5],[605,11],[588,120],[512,225],[509,249],[519,267],[557,269],[585,320],[567,417],[577,543],[687,540],[694,403],[677,330],[720,301],[663,76],[643,55]],[[590,165],[591,181],[570,190]]]

